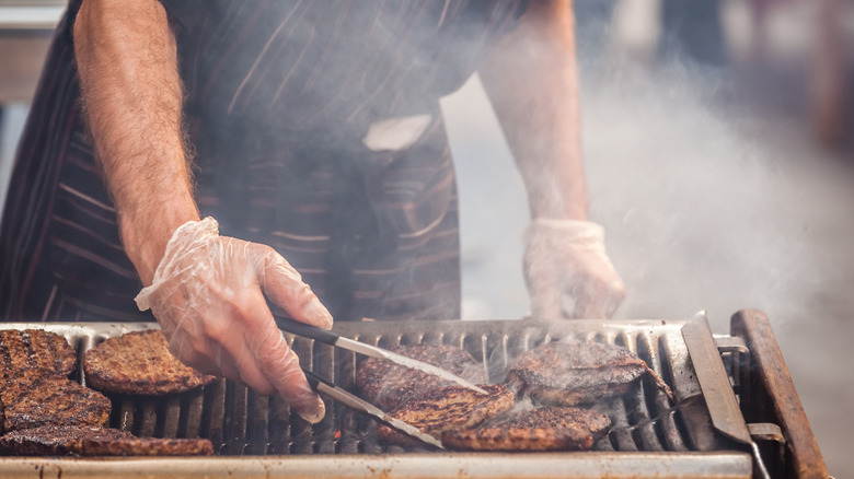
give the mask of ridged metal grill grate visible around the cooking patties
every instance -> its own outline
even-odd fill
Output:
[[[82,358],[88,349],[106,337],[151,326],[47,324],[43,327],[65,336]],[[637,353],[671,386],[682,406],[670,409],[672,406],[663,392],[645,376],[630,394],[593,407],[607,413],[613,422],[612,432],[600,440],[595,449],[679,453],[725,448],[726,443],[711,427],[680,327],[681,323],[665,322],[414,322],[341,324],[335,330],[383,348],[413,343],[461,347],[483,361],[492,383],[504,379],[507,364],[519,353],[543,342],[574,338],[623,346]],[[360,360],[357,354],[304,338],[289,338],[289,342],[304,367],[355,390],[355,372]],[[85,382],[80,373],[78,379]],[[354,455],[428,451],[379,442],[377,423],[372,419],[332,400],[327,399],[324,420],[312,425],[291,414],[281,399],[256,395],[224,379],[200,390],[169,397],[113,395],[111,399],[114,405],[112,427],[141,436],[207,437],[221,455]]]

